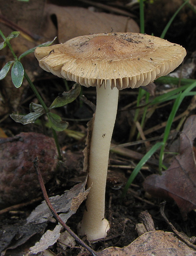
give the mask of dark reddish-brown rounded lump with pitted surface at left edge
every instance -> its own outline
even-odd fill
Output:
[[[44,182],[57,169],[57,147],[54,139],[35,132],[21,132],[0,139],[0,206],[20,203],[37,197],[40,185],[33,167],[38,156]]]

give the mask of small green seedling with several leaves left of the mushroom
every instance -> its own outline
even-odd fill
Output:
[[[40,116],[46,114],[48,117],[49,124],[52,128],[53,136],[57,145],[57,150],[59,154],[59,159],[62,159],[61,156],[61,150],[59,146],[59,142],[57,139],[57,133],[56,131],[63,131],[67,128],[68,123],[65,121],[62,121],[61,117],[59,115],[56,115],[51,112],[52,109],[65,106],[66,104],[73,102],[80,93],[80,85],[75,84],[73,88],[69,92],[64,92],[61,94],[61,97],[58,96],[51,104],[51,106],[47,107],[38,93],[37,89],[35,88],[34,84],[31,82],[29,76],[26,74],[26,71],[24,70],[24,67],[22,66],[21,59],[25,57],[27,54],[34,53],[35,48],[27,50],[25,53],[22,53],[19,57],[16,56],[16,54],[13,51],[13,48],[10,44],[10,40],[13,38],[16,38],[20,33],[18,31],[13,31],[10,35],[7,37],[4,36],[2,31],[0,30],[0,35],[3,38],[3,42],[0,43],[0,49],[3,49],[8,45],[9,49],[11,50],[14,60],[6,63],[4,67],[0,71],[0,80],[4,79],[6,75],[8,74],[9,70],[11,69],[11,77],[12,82],[16,88],[19,88],[22,85],[24,77],[27,79],[31,89],[35,93],[36,97],[38,98],[40,104],[30,103],[30,113],[27,115],[17,115],[17,114],[11,114],[11,118],[18,123],[21,124],[32,124],[35,123],[37,119],[39,119]],[[56,39],[56,38],[55,38]],[[55,40],[54,39],[54,40]],[[45,47],[54,42],[54,40],[46,42],[44,44],[40,44],[37,47]]]

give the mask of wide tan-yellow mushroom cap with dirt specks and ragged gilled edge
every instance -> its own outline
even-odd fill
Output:
[[[137,88],[181,64],[179,44],[139,33],[83,35],[64,44],[37,47],[39,66],[54,75],[89,86]]]

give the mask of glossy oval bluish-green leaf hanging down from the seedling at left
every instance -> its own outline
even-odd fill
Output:
[[[15,61],[12,67],[12,82],[16,88],[19,88],[22,85],[22,81],[24,78],[24,68],[22,63],[19,61]]]

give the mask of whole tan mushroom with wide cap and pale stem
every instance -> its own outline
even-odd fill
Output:
[[[166,40],[138,33],[79,36],[64,44],[37,48],[39,66],[86,87],[96,86],[97,103],[91,137],[86,210],[80,234],[104,238],[105,185],[109,148],[118,106],[118,91],[145,86],[181,64],[186,50]]]

